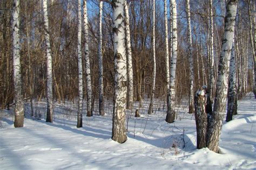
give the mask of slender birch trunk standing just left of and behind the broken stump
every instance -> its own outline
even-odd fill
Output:
[[[188,112],[194,112],[194,65],[192,56],[192,37],[191,37],[191,23],[190,23],[190,0],[186,0],[186,13],[187,13],[187,36],[188,36],[188,61],[190,63],[190,96],[189,96],[189,109]],[[199,75],[199,74],[198,74]]]

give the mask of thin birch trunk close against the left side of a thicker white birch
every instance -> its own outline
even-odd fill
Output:
[[[167,89],[167,115],[171,114],[171,92],[170,92],[170,68],[169,68],[169,44],[168,44],[168,19],[167,19],[167,0],[164,0],[164,24],[165,24],[165,70],[166,70],[166,89]],[[173,121],[167,120],[172,123]]]

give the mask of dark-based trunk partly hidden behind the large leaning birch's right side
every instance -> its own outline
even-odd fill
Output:
[[[237,94],[235,87],[235,58],[234,58],[234,43],[230,58],[230,76],[228,78],[228,98],[227,98],[227,116],[226,122],[231,121],[233,115],[237,112]]]

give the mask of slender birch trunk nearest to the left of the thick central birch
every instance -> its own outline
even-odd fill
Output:
[[[98,61],[99,61],[99,115],[104,116],[104,95],[103,95],[103,65],[102,65],[102,9],[103,2],[99,2],[99,43],[98,43]]]

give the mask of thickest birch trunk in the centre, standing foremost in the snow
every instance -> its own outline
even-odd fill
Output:
[[[124,30],[124,1],[113,0],[113,42],[114,42],[114,107],[112,140],[124,143],[127,139],[125,131],[125,107],[127,93],[127,70]]]

